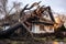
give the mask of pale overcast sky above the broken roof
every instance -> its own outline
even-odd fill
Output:
[[[13,1],[22,2],[22,6],[42,1],[41,4],[51,6],[53,11],[58,13],[66,13],[66,0],[9,0],[9,7],[12,6]]]

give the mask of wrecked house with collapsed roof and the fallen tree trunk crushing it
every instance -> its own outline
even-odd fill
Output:
[[[28,8],[29,4],[26,4],[20,11],[20,14],[7,16],[6,20],[8,22],[8,25],[10,25],[10,28],[4,31],[0,31],[0,36],[6,35],[10,36],[19,28],[22,28],[21,29],[22,31],[26,30],[31,34],[55,33],[57,30],[61,31],[63,23],[61,21],[59,23],[56,22],[56,20],[53,16],[51,7],[38,6],[38,3],[33,3],[30,8]],[[35,10],[31,10],[34,7],[34,4],[36,4],[37,8]],[[29,11],[24,12],[25,10]],[[15,16],[18,18],[15,19]],[[3,25],[6,24],[7,23],[4,23]]]

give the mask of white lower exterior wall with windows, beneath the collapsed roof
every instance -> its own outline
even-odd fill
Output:
[[[42,30],[43,29],[43,30]],[[32,25],[32,33],[54,33],[54,28],[53,26],[44,26],[40,28],[40,25],[33,24]]]

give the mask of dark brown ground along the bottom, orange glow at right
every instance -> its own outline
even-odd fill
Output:
[[[52,40],[46,37],[37,37],[35,40],[11,40],[11,38],[1,38],[0,44],[61,44],[66,43],[66,37],[63,40]]]

